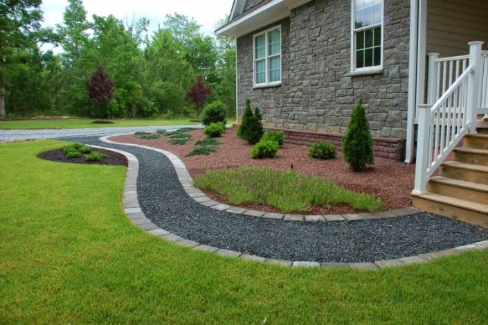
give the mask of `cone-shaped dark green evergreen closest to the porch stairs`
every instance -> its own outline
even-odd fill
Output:
[[[373,139],[363,107],[363,100],[354,108],[347,133],[342,140],[344,160],[352,170],[361,171],[367,164],[374,164]]]

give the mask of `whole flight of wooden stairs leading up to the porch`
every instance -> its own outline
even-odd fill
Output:
[[[413,206],[488,228],[488,134],[469,134],[441,164],[427,192],[412,194]]]

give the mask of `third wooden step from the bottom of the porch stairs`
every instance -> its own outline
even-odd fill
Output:
[[[488,166],[464,164],[460,161],[446,161],[441,164],[440,175],[488,185]]]

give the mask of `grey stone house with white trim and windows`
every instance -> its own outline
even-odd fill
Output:
[[[476,0],[235,0],[217,34],[237,37],[238,118],[249,98],[289,142],[340,145],[363,98],[375,155],[411,163],[419,105],[467,68],[468,42],[488,44],[487,17]]]

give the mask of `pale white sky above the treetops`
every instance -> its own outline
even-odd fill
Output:
[[[205,3],[205,5],[202,5]],[[96,14],[99,16],[114,15],[119,19],[125,17],[132,21],[142,17],[150,19],[150,31],[156,30],[158,24],[163,24],[165,15],[178,12],[194,18],[204,33],[211,35],[215,24],[231,12],[233,0],[84,0],[87,18]],[[63,21],[63,12],[68,4],[67,0],[43,0],[44,26],[55,26]],[[91,19],[90,19],[91,20]]]

